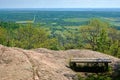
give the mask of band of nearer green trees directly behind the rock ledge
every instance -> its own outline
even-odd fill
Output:
[[[0,44],[24,49],[91,49],[120,58],[120,30],[93,18],[81,26],[41,27],[0,22]]]

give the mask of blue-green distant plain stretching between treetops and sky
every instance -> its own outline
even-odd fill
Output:
[[[87,24],[92,18],[109,22],[120,29],[120,9],[89,8],[41,8],[41,9],[0,9],[0,20],[5,22],[30,21],[42,26],[80,26]]]

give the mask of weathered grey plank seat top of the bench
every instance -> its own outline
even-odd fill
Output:
[[[75,63],[111,63],[108,58],[72,58],[71,62]]]

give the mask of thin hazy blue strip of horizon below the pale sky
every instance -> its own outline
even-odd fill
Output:
[[[17,10],[17,11],[117,11],[120,8],[0,8],[0,10]]]

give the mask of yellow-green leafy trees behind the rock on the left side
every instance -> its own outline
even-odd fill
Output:
[[[1,23],[0,25],[2,26],[3,24]],[[49,38],[50,33],[47,29],[33,27],[31,24],[20,25],[14,29],[11,29],[10,26],[7,28],[4,26],[0,27],[0,44],[24,49],[44,47],[57,50],[57,39]]]

